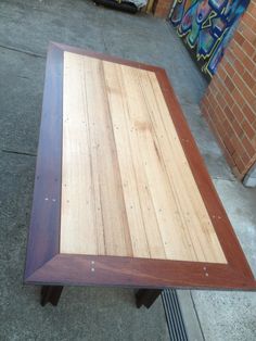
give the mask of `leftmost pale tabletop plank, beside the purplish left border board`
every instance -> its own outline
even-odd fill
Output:
[[[82,59],[64,54],[61,252],[79,253],[90,240],[86,252],[95,254],[94,198],[81,70]]]

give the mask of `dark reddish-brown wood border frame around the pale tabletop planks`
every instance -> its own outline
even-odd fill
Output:
[[[64,51],[148,70],[156,74],[228,264],[60,254]],[[25,283],[256,289],[254,276],[163,68],[60,43],[50,45],[27,245]]]

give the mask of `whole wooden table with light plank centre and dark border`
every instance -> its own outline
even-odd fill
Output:
[[[164,70],[50,45],[25,282],[255,288]]]

